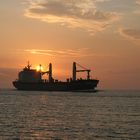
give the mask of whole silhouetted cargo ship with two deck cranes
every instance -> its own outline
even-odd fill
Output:
[[[52,75],[52,64],[49,64],[48,71],[42,71],[42,66],[39,70],[31,69],[28,65],[19,72],[18,79],[13,81],[13,85],[17,90],[33,90],[33,91],[86,91],[95,90],[99,80],[91,79],[90,69],[81,66],[82,69],[77,69],[76,62],[73,62],[72,78],[66,81],[55,80]],[[79,65],[80,66],[80,65]],[[86,79],[77,79],[78,72],[86,72]],[[47,74],[48,79],[43,79],[43,75]]]

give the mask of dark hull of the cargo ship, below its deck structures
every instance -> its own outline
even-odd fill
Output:
[[[33,91],[75,91],[75,90],[94,90],[99,80],[77,80],[72,82],[38,82],[25,83],[13,81],[13,85],[18,90]]]

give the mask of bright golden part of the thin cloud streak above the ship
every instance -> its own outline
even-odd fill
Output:
[[[81,49],[75,49],[75,50],[41,50],[41,49],[28,49],[25,50],[26,52],[29,52],[31,54],[36,55],[47,55],[47,56],[59,56],[59,57],[86,57],[86,56],[92,56],[93,54],[89,53],[88,48],[81,48]]]

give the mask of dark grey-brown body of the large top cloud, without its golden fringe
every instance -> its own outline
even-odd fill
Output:
[[[84,9],[84,7],[77,6],[75,3],[62,3],[60,1],[46,1],[46,3],[39,3],[37,7],[30,8],[28,12],[40,15],[68,16],[97,21],[111,20],[115,15],[114,13],[96,11],[95,7]]]

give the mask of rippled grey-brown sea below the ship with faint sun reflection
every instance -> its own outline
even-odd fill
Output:
[[[140,140],[140,91],[0,89],[0,140]]]

